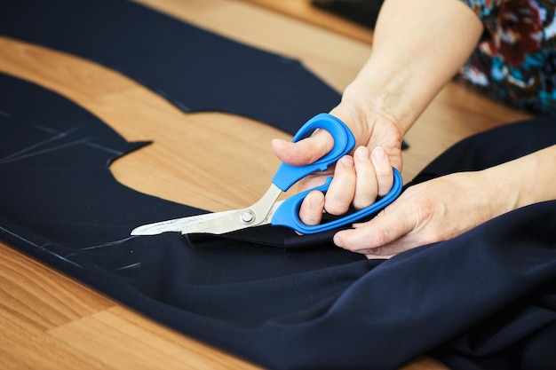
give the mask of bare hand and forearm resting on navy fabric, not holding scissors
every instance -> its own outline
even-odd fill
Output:
[[[409,186],[375,218],[338,232],[339,247],[369,258],[449,240],[513,209],[556,199],[556,146],[476,172]]]

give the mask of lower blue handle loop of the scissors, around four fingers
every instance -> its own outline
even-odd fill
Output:
[[[314,189],[310,189],[302,193],[298,193],[288,198],[287,200],[283,201],[282,205],[274,212],[274,216],[272,217],[271,224],[288,226],[291,229],[294,229],[304,234],[325,232],[328,230],[336,229],[346,224],[353,224],[354,222],[360,220],[365,216],[372,215],[373,213],[378,212],[381,209],[384,209],[388,204],[392,203],[398,197],[398,195],[400,195],[401,188],[403,186],[403,181],[401,179],[400,172],[397,169],[393,169],[392,190],[390,190],[390,192],[387,193],[383,198],[371,204],[369,207],[365,209],[360,209],[347,216],[337,218],[325,224],[317,224],[314,226],[304,224],[299,219],[299,208],[301,207],[301,203],[305,199],[306,195],[315,189],[320,190],[323,193],[326,193],[326,191],[330,186],[331,181],[332,181],[332,177],[329,177],[326,181],[326,184],[315,187]]]

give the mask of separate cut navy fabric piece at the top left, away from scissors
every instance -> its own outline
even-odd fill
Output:
[[[242,114],[290,133],[340,100],[296,59],[131,1],[4,0],[0,35],[96,61],[185,112]]]

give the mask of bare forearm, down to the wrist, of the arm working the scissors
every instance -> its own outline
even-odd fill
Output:
[[[369,61],[344,93],[403,132],[473,52],[481,21],[457,0],[386,0]]]

